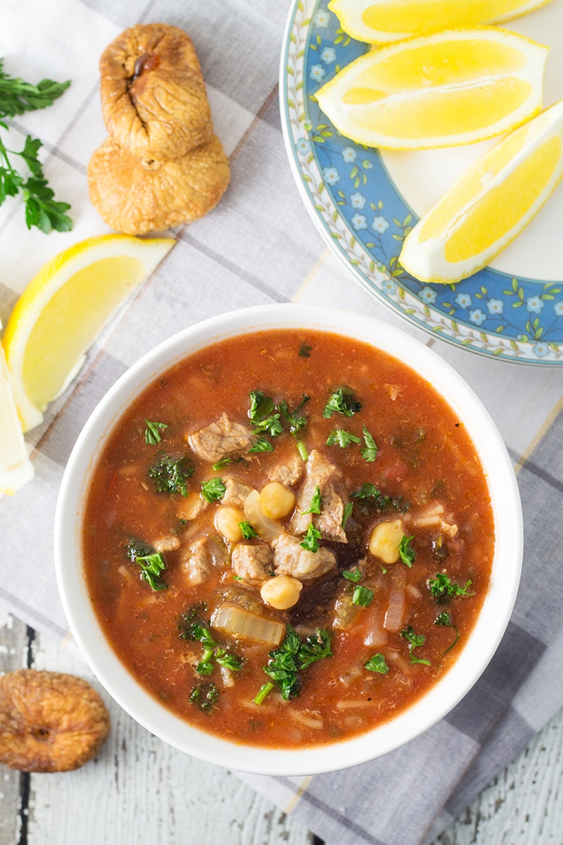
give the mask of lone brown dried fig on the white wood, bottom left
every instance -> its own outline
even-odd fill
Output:
[[[83,679],[19,669],[0,678],[0,763],[69,771],[94,757],[110,730],[100,695]]]

